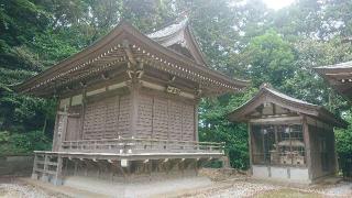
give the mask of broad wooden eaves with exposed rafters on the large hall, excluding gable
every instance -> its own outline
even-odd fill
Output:
[[[199,65],[191,59],[162,46],[140,33],[132,25],[122,22],[108,35],[91,46],[44,70],[37,76],[15,86],[20,92],[37,95],[43,87],[65,86],[103,73],[117,67],[121,63],[128,64],[129,57],[122,43],[128,41],[134,57],[145,62],[157,69],[170,73],[212,89],[239,91],[249,85],[246,80],[230,79],[229,77]]]

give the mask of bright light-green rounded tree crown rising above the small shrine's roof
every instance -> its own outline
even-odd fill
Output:
[[[254,87],[271,82],[279,88],[296,70],[292,45],[272,30],[254,37],[244,50],[243,57]]]

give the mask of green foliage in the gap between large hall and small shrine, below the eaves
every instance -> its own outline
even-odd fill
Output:
[[[199,107],[199,140],[224,142],[226,153],[232,167],[249,167],[248,127],[229,122],[227,114],[251,99],[257,89],[248,89],[235,96],[205,99]]]

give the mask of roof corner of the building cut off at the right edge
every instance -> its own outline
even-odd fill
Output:
[[[314,68],[346,100],[352,101],[352,62]]]

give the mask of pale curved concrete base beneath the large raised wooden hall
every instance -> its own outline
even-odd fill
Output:
[[[151,182],[118,183],[94,177],[69,176],[65,178],[64,186],[87,190],[95,194],[103,194],[111,197],[148,197],[166,194],[175,190],[188,190],[191,188],[211,185],[208,177],[184,177]]]

